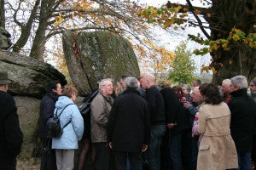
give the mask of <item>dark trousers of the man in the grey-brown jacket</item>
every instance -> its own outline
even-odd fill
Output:
[[[95,170],[108,170],[110,164],[110,150],[107,142],[93,143],[95,146]]]

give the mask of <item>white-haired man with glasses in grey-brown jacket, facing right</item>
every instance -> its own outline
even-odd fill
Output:
[[[113,105],[113,83],[111,79],[103,79],[99,83],[99,93],[90,106],[91,142],[96,149],[95,169],[108,170],[110,151],[107,142],[108,116]]]

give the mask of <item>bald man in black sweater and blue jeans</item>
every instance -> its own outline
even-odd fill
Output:
[[[140,83],[146,90],[151,122],[151,141],[145,158],[150,170],[160,170],[160,144],[166,132],[165,103],[160,90],[155,86],[152,74],[143,74]]]

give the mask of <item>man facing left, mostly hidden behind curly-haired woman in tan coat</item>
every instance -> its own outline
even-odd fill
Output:
[[[198,113],[199,108],[203,102],[199,87],[193,88],[192,94],[191,94],[191,100],[192,100],[192,105],[187,101],[184,103],[184,107],[187,108],[187,111],[189,111],[192,117],[195,117],[195,114]],[[192,169],[196,169],[197,155],[198,155],[198,136],[194,136],[192,138]]]

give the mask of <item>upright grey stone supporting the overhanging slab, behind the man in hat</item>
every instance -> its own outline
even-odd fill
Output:
[[[24,96],[15,96],[14,98],[17,106],[20,128],[23,133],[20,158],[22,160],[30,159],[34,147],[33,135],[37,130],[41,100]]]

